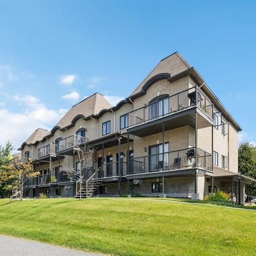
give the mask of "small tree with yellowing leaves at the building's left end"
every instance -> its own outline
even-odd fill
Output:
[[[0,174],[0,182],[6,184],[7,188],[12,188],[15,193],[22,200],[23,196],[23,185],[26,179],[37,177],[39,172],[34,170],[32,160],[28,159],[27,162],[23,163],[18,161],[17,163],[9,163],[3,166],[3,171]]]

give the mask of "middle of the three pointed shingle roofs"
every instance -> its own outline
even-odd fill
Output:
[[[55,125],[62,129],[73,124],[78,118],[97,115],[102,109],[111,108],[110,103],[100,93],[94,93],[68,110],[68,112]]]

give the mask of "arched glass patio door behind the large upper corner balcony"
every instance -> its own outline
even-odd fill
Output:
[[[162,94],[149,101],[149,119],[169,113],[169,94]]]

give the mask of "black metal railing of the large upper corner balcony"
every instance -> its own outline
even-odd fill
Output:
[[[212,102],[205,96],[202,90],[195,86],[130,111],[128,113],[128,127],[174,114],[194,106],[200,107],[207,116],[213,118]]]

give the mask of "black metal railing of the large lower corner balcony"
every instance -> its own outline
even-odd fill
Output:
[[[202,149],[188,148],[129,159],[128,174],[159,172],[199,167],[212,170],[212,155]]]

